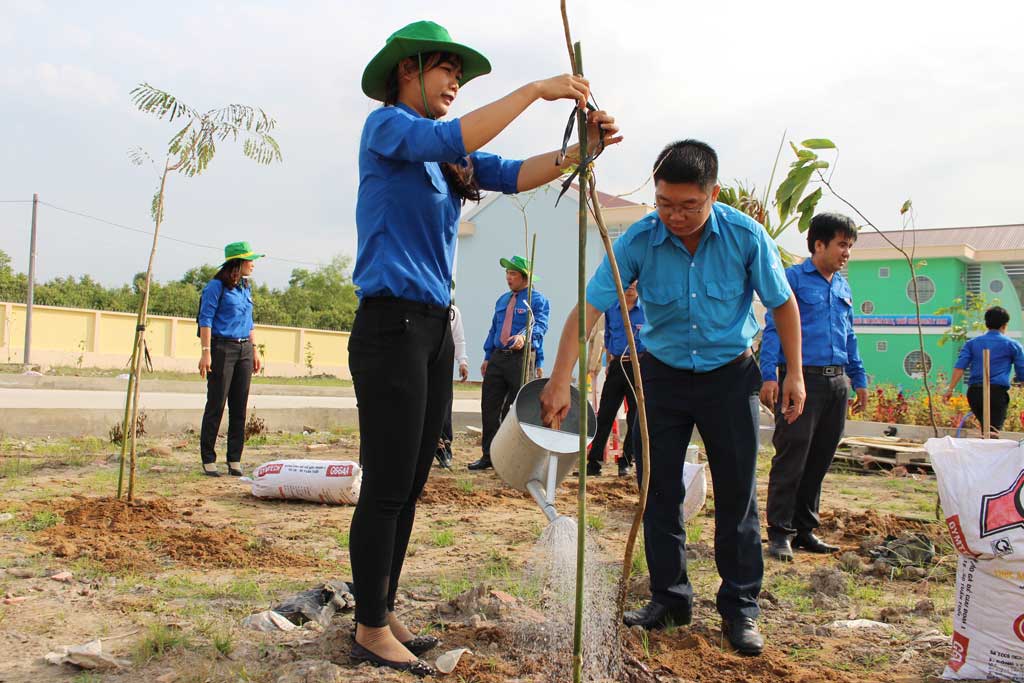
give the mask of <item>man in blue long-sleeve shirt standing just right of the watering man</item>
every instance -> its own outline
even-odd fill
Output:
[[[775,412],[775,456],[766,508],[768,554],[783,562],[793,561],[794,548],[812,553],[839,550],[816,537],[814,529],[820,524],[821,483],[846,427],[851,383],[857,395],[853,410],[862,410],[867,402],[867,375],[853,332],[853,295],[840,272],[856,241],[857,226],[849,217],[818,214],[807,230],[811,257],[785,269],[800,306],[807,386],[804,414],[795,422],[785,420],[778,400],[778,380],[792,364],[780,348],[772,312],[765,314],[761,401]]]

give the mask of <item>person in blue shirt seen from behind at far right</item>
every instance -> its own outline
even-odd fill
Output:
[[[982,386],[984,384],[984,351],[988,349],[989,425],[993,432],[1002,429],[1010,407],[1010,370],[1017,375],[1017,381],[1024,380],[1024,347],[1007,336],[1010,313],[1001,306],[992,306],[985,311],[985,327],[988,332],[968,340],[961,349],[953,374],[949,378],[948,399],[964,377],[964,371],[971,369],[967,387],[967,402],[971,405],[978,424],[982,423],[984,412]]]

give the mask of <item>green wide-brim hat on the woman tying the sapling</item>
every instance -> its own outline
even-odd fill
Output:
[[[384,101],[387,78],[398,62],[406,57],[428,52],[452,52],[462,58],[460,86],[490,73],[487,58],[473,48],[453,41],[444,27],[433,22],[416,22],[388,36],[384,47],[362,71],[362,92],[367,97]]]

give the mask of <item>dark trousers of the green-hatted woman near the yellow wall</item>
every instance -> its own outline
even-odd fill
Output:
[[[210,372],[206,375],[206,410],[199,449],[204,464],[217,461],[217,432],[227,403],[227,462],[242,460],[246,444],[246,403],[253,376],[253,345],[249,340],[211,339]]]

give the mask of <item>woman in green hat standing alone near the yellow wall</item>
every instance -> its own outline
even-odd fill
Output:
[[[224,247],[224,263],[203,288],[199,304],[199,338],[203,354],[199,374],[206,378],[206,410],[200,432],[203,472],[217,471],[217,432],[227,403],[227,473],[242,476],[240,463],[245,446],[246,404],[249,382],[259,372],[259,354],[253,350],[253,295],[249,286],[258,258],[248,242]]]

